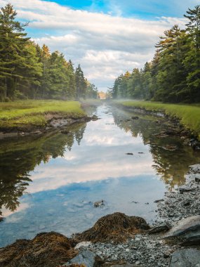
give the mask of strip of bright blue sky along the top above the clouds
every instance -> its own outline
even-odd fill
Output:
[[[51,1],[51,0],[45,0]],[[62,6],[103,13],[121,13],[124,17],[149,18],[161,16],[181,17],[187,8],[199,4],[199,0],[55,0]]]

